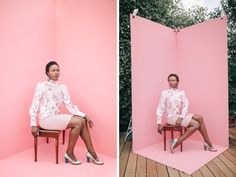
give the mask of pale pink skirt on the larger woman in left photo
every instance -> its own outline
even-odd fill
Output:
[[[39,125],[48,130],[65,130],[70,122],[72,114],[57,114],[39,119]]]

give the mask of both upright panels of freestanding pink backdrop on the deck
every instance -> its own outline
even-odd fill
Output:
[[[180,32],[141,17],[131,17],[133,150],[162,142],[156,108],[167,76],[180,76],[190,111],[204,116],[212,142],[228,146],[226,18]],[[201,140],[199,133],[190,139]]]

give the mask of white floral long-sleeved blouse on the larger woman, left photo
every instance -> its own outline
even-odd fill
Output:
[[[78,107],[71,103],[66,85],[59,84],[53,80],[38,83],[29,110],[31,117],[30,125],[36,126],[38,113],[40,119],[60,114],[62,102],[64,102],[67,110],[71,114],[85,117],[85,113],[80,112]]]

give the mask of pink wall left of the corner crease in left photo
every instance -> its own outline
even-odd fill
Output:
[[[55,57],[55,1],[0,1],[0,159],[32,147],[29,106]]]

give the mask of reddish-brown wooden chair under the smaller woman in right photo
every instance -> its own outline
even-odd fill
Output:
[[[182,126],[175,126],[170,124],[164,124],[163,125],[163,132],[164,132],[164,151],[166,151],[166,131],[171,132],[171,138],[174,139],[174,131],[178,131],[180,133],[180,136],[183,134],[183,127]],[[186,131],[186,127],[184,128],[184,131]],[[180,150],[183,151],[183,144],[180,144]]]

